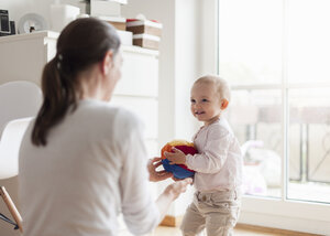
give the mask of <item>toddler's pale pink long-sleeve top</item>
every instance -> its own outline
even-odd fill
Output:
[[[198,154],[188,154],[186,164],[195,170],[194,185],[201,192],[239,190],[243,160],[240,144],[228,121],[221,117],[194,136]]]

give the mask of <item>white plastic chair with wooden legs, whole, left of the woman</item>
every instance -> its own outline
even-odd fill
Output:
[[[0,204],[0,213],[10,213],[20,230],[22,219],[14,205],[14,202],[19,201],[16,178],[19,150],[31,117],[36,116],[41,104],[42,92],[33,83],[18,81],[0,85],[0,195],[7,205],[3,207],[3,204]],[[9,224],[3,222],[0,224],[2,224],[1,235],[18,235]]]

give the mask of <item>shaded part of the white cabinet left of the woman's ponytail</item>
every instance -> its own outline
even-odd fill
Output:
[[[40,85],[44,64],[55,56],[57,37],[52,31],[0,37],[0,84],[29,81]]]

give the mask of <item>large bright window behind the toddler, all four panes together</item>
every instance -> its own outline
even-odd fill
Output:
[[[330,203],[329,12],[329,0],[219,0],[246,195]]]

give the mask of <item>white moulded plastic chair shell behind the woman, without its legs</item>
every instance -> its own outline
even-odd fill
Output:
[[[18,153],[29,119],[36,116],[42,104],[42,92],[31,82],[9,82],[0,85],[0,180],[18,174]],[[7,132],[4,133],[4,127]]]

